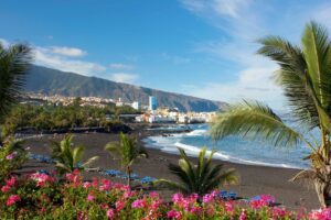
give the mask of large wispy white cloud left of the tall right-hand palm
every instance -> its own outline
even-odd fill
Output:
[[[182,0],[192,13],[206,19],[225,34],[222,38],[196,42],[195,53],[203,53],[235,65],[231,81],[205,82],[202,87],[182,90],[206,99],[235,102],[242,99],[257,99],[274,108],[281,108],[284,97],[273,79],[277,65],[255,55],[257,38],[268,33],[261,21],[261,12],[253,0]]]

